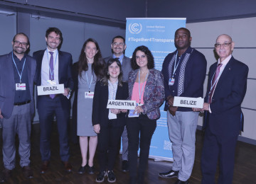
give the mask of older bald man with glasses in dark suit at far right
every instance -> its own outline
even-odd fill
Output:
[[[215,43],[218,62],[210,66],[208,88],[203,110],[206,133],[201,157],[202,183],[215,183],[220,161],[218,183],[232,183],[235,145],[241,130],[241,103],[245,97],[248,67],[232,56],[234,42],[229,35],[219,35]]]

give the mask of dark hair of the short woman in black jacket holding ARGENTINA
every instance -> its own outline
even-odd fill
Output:
[[[118,85],[122,86],[122,67],[121,67],[121,63],[119,62],[119,60],[117,58],[109,59],[107,64],[105,65],[104,77],[101,80],[102,83],[104,84],[104,86],[108,85],[108,80],[110,79],[110,74],[108,72],[108,67],[110,67],[110,65],[113,64],[114,62],[117,62],[117,66],[120,69],[120,74],[118,76]]]

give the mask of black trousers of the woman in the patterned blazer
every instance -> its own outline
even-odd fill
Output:
[[[144,173],[149,159],[149,146],[156,130],[156,120],[150,120],[146,115],[128,117],[128,159],[129,176],[137,176],[137,159],[139,151],[139,173]]]

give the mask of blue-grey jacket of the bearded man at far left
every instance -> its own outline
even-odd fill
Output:
[[[0,56],[0,109],[4,118],[11,117],[14,109],[15,83],[14,67],[11,53]],[[26,55],[26,65],[28,69],[29,92],[31,94],[31,115],[34,113],[33,100],[33,79],[36,72],[36,60]]]

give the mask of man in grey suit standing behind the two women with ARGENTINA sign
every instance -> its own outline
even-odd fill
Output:
[[[129,72],[132,71],[131,59],[124,56],[124,51],[126,49],[125,39],[122,36],[115,36],[112,39],[111,49],[112,56],[106,57],[105,62],[109,59],[118,58],[122,64],[123,79],[122,81],[128,81]],[[122,171],[128,171],[128,137],[127,129],[124,127],[124,132],[122,133]]]

